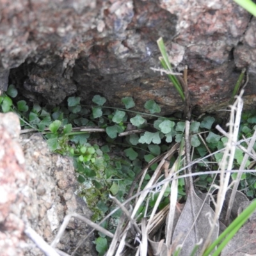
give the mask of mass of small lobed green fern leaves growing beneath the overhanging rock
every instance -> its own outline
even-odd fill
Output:
[[[44,131],[47,145],[52,151],[73,157],[77,179],[81,184],[79,195],[86,199],[86,203],[92,209],[93,221],[100,220],[110,211],[112,201],[109,200],[109,193],[122,202],[134,177],[145,166],[145,162],[149,163],[154,157],[166,152],[170,143],[180,142],[184,137],[184,120],[174,122],[172,118],[156,115],[152,115],[151,119],[147,118],[148,114],[130,110],[135,106],[131,97],[122,99],[125,109],[104,106],[106,99],[100,95],[93,97],[94,105],[90,107],[83,106],[79,97],[69,97],[67,102],[54,108],[30,104],[24,99],[16,102],[15,97],[17,90],[10,86],[8,91],[0,96],[1,111],[15,111],[20,116],[23,129],[32,127]],[[161,112],[161,108],[154,100],[145,102],[145,109],[151,114]],[[255,116],[256,113],[253,111],[243,113],[239,139],[243,136],[252,136],[256,124]],[[129,131],[127,128],[131,124],[132,129],[144,131],[131,132],[125,137],[120,137],[120,133]],[[191,122],[191,146],[195,149],[193,159],[205,156],[209,150],[214,152],[225,147],[227,138],[221,138],[214,129],[215,124],[217,120],[212,116],[204,116]],[[74,129],[77,126],[104,128],[106,133],[100,135],[96,132],[76,131]],[[105,144],[99,147],[95,141],[100,141],[102,136]],[[246,147],[245,143],[242,145]],[[222,156],[223,153],[216,153],[209,161],[220,163]],[[243,156],[242,150],[236,151],[234,168],[239,167]],[[205,159],[205,162],[207,161],[208,159]],[[248,161],[246,168],[250,164],[252,163]],[[202,163],[198,164],[198,171],[202,171],[202,168],[204,170],[205,166],[212,170],[218,168],[218,164],[209,166]],[[150,168],[154,170],[156,167],[157,163]],[[236,175],[232,175],[232,178],[236,179]],[[149,174],[145,176],[145,180],[147,179],[150,179]],[[202,175],[197,179],[196,186],[207,190],[211,182],[212,177]],[[247,196],[255,197],[256,176],[253,173],[243,175],[240,188],[246,191]],[[179,196],[186,195],[184,179],[179,180],[178,191]],[[149,205],[154,205],[156,199],[157,195],[150,199]],[[159,209],[168,203],[166,191],[166,197],[159,205]],[[141,208],[141,212],[143,211],[145,209]],[[97,251],[104,253],[108,241],[105,237],[99,238],[95,241]]]

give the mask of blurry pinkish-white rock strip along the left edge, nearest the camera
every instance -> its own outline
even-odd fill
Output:
[[[21,211],[28,196],[26,189],[28,173],[19,143],[13,138],[19,136],[19,118],[13,113],[0,113],[0,248],[3,256],[24,255],[24,221]],[[8,126],[12,124],[12,126]],[[13,134],[17,131],[18,134]]]

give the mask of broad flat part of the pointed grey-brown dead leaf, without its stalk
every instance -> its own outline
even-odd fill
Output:
[[[193,189],[192,193],[189,193],[187,202],[182,213],[180,214],[179,221],[173,233],[173,241],[175,240],[175,238],[180,237],[179,243],[184,243],[179,256],[190,255],[196,243],[199,243],[200,239],[203,239],[204,243],[205,239],[209,235],[209,230],[211,230],[212,228],[210,222],[212,221],[212,217],[214,216],[214,211],[208,204],[203,204],[204,201],[196,195]],[[196,220],[198,212],[200,212],[200,214]],[[195,220],[196,222],[193,226]],[[193,228],[191,228],[192,226]],[[218,233],[219,227],[215,227],[214,232],[212,233],[212,241],[214,241],[218,237]],[[186,237],[187,235],[188,237]],[[203,243],[200,245],[196,255],[199,255]]]

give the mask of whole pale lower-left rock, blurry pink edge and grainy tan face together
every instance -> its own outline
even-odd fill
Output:
[[[15,114],[0,114],[1,255],[43,255],[24,235],[26,225],[50,244],[67,214],[90,218],[90,211],[75,195],[72,160],[51,154],[40,134],[22,138],[19,144],[19,131]],[[71,254],[89,231],[85,223],[70,221],[57,248]],[[97,255],[93,239],[86,240],[77,255]]]

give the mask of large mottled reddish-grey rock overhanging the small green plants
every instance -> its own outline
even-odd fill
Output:
[[[241,72],[250,81],[245,106],[256,105],[255,18],[232,0],[0,0],[1,87],[19,86],[31,100],[58,104],[77,93],[111,106],[132,96],[168,115],[183,109],[159,67],[163,36],[173,65],[188,65],[195,113],[227,106]],[[10,75],[8,76],[10,72]]]

